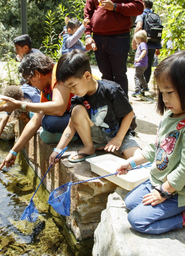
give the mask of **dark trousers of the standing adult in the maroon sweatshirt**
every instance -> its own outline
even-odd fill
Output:
[[[100,21],[101,22],[101,21]],[[120,84],[128,98],[127,57],[130,48],[129,33],[121,36],[93,35],[97,45],[95,57],[102,73],[101,79]]]

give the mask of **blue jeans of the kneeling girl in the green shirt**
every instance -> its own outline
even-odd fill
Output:
[[[131,226],[146,234],[161,234],[182,228],[183,219],[180,213],[185,210],[185,206],[178,207],[178,194],[156,206],[144,206],[143,196],[150,193],[150,190],[151,183],[147,180],[126,195],[125,205],[131,210],[128,213]]]

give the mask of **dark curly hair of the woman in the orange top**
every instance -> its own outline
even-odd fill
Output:
[[[30,80],[35,76],[35,71],[46,75],[53,70],[53,66],[54,62],[48,56],[29,54],[21,61],[18,72],[25,80]]]

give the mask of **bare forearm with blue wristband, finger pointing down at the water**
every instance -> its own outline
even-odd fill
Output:
[[[40,114],[34,114],[32,119],[29,121],[29,123],[25,126],[21,136],[19,137],[16,144],[13,146],[12,150],[16,153],[20,152],[21,149],[27,144],[27,142],[35,135],[38,128],[41,126],[43,115]],[[6,168],[11,167],[14,165],[14,161],[16,159],[16,156],[12,153],[9,153],[5,159],[3,160],[0,170],[3,168],[3,166],[6,166]]]

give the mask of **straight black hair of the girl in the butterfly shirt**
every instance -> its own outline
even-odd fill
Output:
[[[168,81],[172,86],[175,94],[179,98],[181,108],[185,110],[185,51],[175,52],[171,56],[161,61],[153,73],[154,90],[157,95],[157,112],[160,115],[167,110],[162,100],[162,92],[160,92],[157,83]]]

